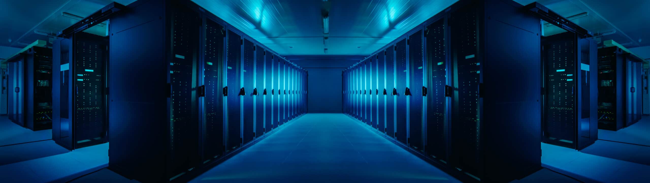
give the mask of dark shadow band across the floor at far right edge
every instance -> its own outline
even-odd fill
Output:
[[[580,150],[580,152],[642,165],[650,165],[650,147],[641,145],[600,140]]]

